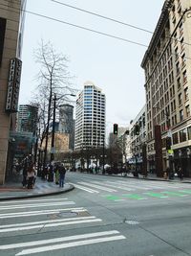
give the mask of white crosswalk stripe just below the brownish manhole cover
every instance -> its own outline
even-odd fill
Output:
[[[17,226],[28,226],[28,225],[36,225],[36,224],[45,224],[45,223],[53,223],[53,222],[64,222],[64,221],[81,221],[81,220],[92,220],[96,219],[95,216],[91,217],[74,217],[67,218],[62,220],[51,220],[51,221],[33,221],[33,222],[25,222],[25,223],[16,223],[16,224],[8,224],[8,225],[0,225],[0,230],[5,228],[17,227]]]

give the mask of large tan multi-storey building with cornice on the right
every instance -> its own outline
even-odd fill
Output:
[[[162,156],[164,171],[171,162],[171,168],[180,165],[187,176],[191,175],[190,30],[191,1],[166,0],[141,63],[145,71],[148,164],[152,167]],[[156,158],[157,127],[162,155]],[[167,136],[172,139],[171,155],[166,151]]]

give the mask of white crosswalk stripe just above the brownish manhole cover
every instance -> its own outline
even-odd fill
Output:
[[[41,211],[32,211],[32,212],[20,212],[20,213],[8,213],[0,214],[0,219],[16,218],[16,217],[31,217],[37,215],[48,215],[48,214],[59,214],[63,211],[72,211],[72,212],[85,212],[85,208],[64,208],[64,209],[54,209],[54,210],[41,210]]]

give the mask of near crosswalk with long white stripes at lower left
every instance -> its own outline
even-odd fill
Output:
[[[42,252],[46,254],[75,246],[115,243],[126,239],[115,229],[67,233],[68,228],[73,225],[76,228],[90,227],[91,224],[98,228],[102,222],[102,219],[90,215],[86,208],[76,207],[75,202],[68,198],[1,201],[0,222],[0,237],[4,238],[4,243],[0,244],[0,255],[20,256]],[[62,235],[55,236],[53,232],[52,237],[53,230],[61,232]],[[50,234],[48,238],[43,237],[47,232]],[[23,241],[24,234],[26,239]],[[19,236],[22,239],[18,242]]]

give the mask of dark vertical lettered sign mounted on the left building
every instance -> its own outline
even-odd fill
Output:
[[[20,89],[22,61],[18,58],[11,58],[10,75],[8,81],[8,93],[6,111],[17,112],[18,97]]]

